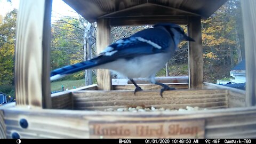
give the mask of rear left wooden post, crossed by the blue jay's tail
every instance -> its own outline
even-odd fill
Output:
[[[99,54],[110,44],[110,25],[107,19],[97,20],[97,53]],[[107,69],[99,69],[97,71],[98,89],[111,90],[111,76]]]

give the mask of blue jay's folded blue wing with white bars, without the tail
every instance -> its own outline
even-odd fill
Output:
[[[166,30],[145,29],[109,45],[100,53],[100,61],[110,62],[116,59],[132,59],[140,55],[166,52],[170,43],[171,36]]]

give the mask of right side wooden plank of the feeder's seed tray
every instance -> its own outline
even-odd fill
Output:
[[[228,90],[228,107],[245,107],[245,91],[235,89],[233,87],[212,84],[212,83],[204,83],[204,89],[226,89]]]

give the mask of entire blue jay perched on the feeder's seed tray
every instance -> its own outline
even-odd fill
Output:
[[[130,37],[109,45],[98,57],[51,72],[51,81],[84,69],[111,69],[127,76],[135,85],[134,94],[141,91],[133,78],[145,77],[153,84],[161,85],[162,93],[174,90],[155,81],[157,71],[165,66],[181,41],[194,41],[174,23],[158,23],[153,28],[138,31]]]

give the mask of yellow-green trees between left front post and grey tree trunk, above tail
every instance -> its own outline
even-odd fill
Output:
[[[52,69],[83,61],[84,26],[75,18],[61,18],[52,22]]]

